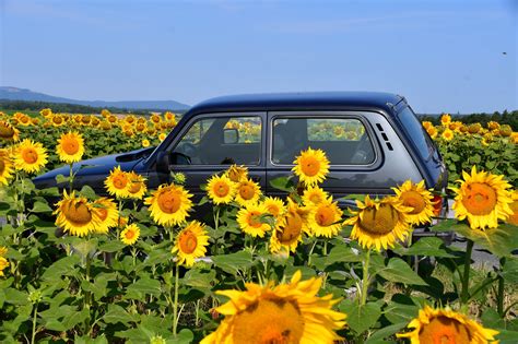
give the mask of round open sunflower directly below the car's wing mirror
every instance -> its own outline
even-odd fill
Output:
[[[192,194],[176,185],[162,185],[145,199],[151,216],[158,225],[172,226],[184,223],[192,207]]]

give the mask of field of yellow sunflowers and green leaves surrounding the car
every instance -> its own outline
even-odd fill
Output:
[[[518,342],[509,128],[423,123],[450,168],[452,218],[434,213],[424,181],[341,210],[321,188],[326,153],[311,149],[272,181],[284,199],[264,195],[236,165],[207,180],[199,202],[181,174],[150,190],[143,176],[116,167],[109,197],[74,189],[72,169],[64,190],[31,180],[154,145],[175,124],[170,112],[0,114],[2,343]],[[198,205],[210,205],[203,221]],[[412,239],[428,225],[455,232],[466,248]],[[475,249],[499,263],[476,265]]]

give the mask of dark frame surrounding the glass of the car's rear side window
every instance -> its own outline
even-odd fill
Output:
[[[372,170],[379,168],[382,162],[382,151],[379,144],[379,139],[370,126],[369,120],[362,116],[362,114],[372,111],[334,111],[334,110],[303,110],[303,111],[269,111],[268,112],[268,152],[267,162],[268,165],[273,168],[291,168],[295,164],[276,164],[273,162],[273,122],[275,119],[289,119],[289,118],[338,118],[338,119],[356,119],[364,126],[365,132],[368,134],[370,143],[374,150],[374,161],[367,165],[344,165],[344,164],[330,164],[329,168],[350,169],[350,170]],[[381,116],[381,115],[380,115]]]

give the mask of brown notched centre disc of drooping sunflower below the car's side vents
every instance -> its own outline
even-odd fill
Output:
[[[360,225],[365,232],[385,235],[392,232],[398,221],[398,211],[389,204],[381,204],[378,210],[375,207],[365,209]]]

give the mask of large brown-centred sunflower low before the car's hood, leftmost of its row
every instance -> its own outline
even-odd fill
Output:
[[[54,215],[56,226],[61,227],[71,235],[83,237],[95,232],[99,222],[98,214],[92,203],[85,198],[76,198],[72,191],[70,195],[63,190],[63,199],[56,204]]]

